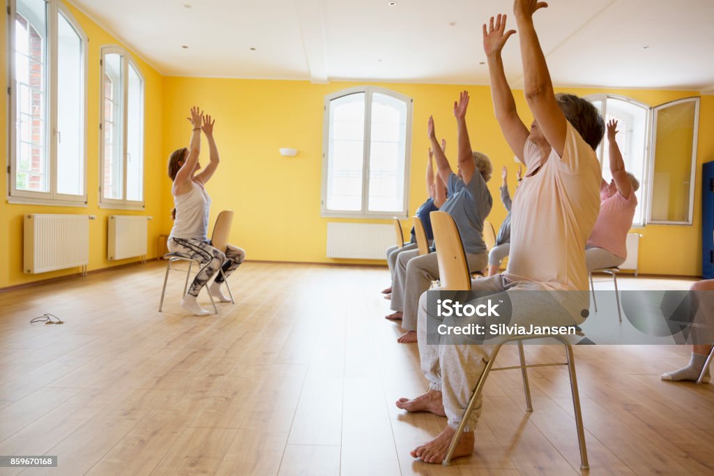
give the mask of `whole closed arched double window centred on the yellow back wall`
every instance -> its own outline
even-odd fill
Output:
[[[406,217],[411,109],[371,86],[325,98],[323,216]]]

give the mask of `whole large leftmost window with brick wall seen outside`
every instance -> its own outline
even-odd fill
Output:
[[[9,202],[86,204],[86,36],[57,0],[10,12]]]

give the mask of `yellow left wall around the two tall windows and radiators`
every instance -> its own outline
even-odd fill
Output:
[[[23,247],[23,215],[29,213],[73,213],[73,214],[94,214],[96,220],[89,222],[90,249],[89,249],[89,269],[101,269],[116,266],[137,259],[126,259],[121,261],[109,261],[106,259],[106,234],[108,218],[111,214],[146,214],[154,217],[149,222],[149,257],[156,257],[156,237],[161,229],[162,197],[159,187],[151,187],[150,184],[159,181],[159,175],[163,174],[164,159],[162,155],[162,132],[161,109],[163,108],[164,94],[162,91],[164,78],[158,74],[151,66],[141,61],[133,55],[137,66],[145,80],[145,145],[144,145],[144,177],[146,187],[144,187],[144,199],[146,202],[145,212],[129,212],[126,210],[100,209],[99,203],[99,59],[100,47],[109,44],[120,44],[114,37],[106,33],[97,26],[94,21],[88,19],[80,11],[69,6],[71,13],[87,36],[89,36],[89,71],[87,78],[87,94],[89,97],[87,114],[88,134],[87,134],[87,190],[89,207],[41,207],[36,205],[8,204],[7,181],[0,180],[0,288],[22,284],[24,282],[36,281],[38,279],[49,279],[52,277],[74,274],[79,269],[65,269],[58,272],[48,272],[42,274],[24,274],[22,270],[22,247]],[[3,51],[5,58],[7,41],[7,22],[0,21],[0,51]],[[0,61],[0,74],[7,78],[7,61]],[[5,86],[6,87],[6,86]],[[7,95],[2,94],[0,99],[0,109],[3,110],[0,118],[0,147],[6,152],[9,150],[7,143]],[[2,168],[6,169],[8,154],[3,154]],[[4,174],[6,177],[6,174]]]

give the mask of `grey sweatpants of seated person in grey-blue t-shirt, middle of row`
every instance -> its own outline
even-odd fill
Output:
[[[402,328],[405,330],[416,330],[419,297],[439,279],[436,253],[418,254],[418,249],[399,254],[392,284],[391,308],[402,311]],[[470,272],[481,271],[486,267],[488,254],[466,253],[466,262]]]

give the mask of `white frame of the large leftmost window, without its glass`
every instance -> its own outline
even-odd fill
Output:
[[[16,15],[16,0],[9,0],[8,2],[8,91],[9,91],[9,107],[8,107],[8,147],[9,147],[9,164],[7,167],[8,173],[8,192],[7,201],[11,204],[36,204],[36,205],[54,205],[58,207],[87,207],[87,77],[88,77],[88,62],[87,56],[89,51],[89,37],[86,36],[84,29],[80,26],[79,22],[74,18],[69,9],[64,6],[59,0],[45,0],[46,11],[47,11],[47,37],[46,37],[46,49],[47,49],[47,63],[46,63],[46,74],[49,76],[48,87],[47,87],[47,98],[46,98],[46,109],[48,111],[47,117],[48,121],[46,124],[46,129],[44,133],[44,140],[47,147],[47,162],[49,168],[49,192],[35,192],[32,190],[18,190],[16,189],[17,177],[16,177],[16,167],[17,167],[17,151],[16,151],[16,136],[17,136],[17,91],[15,90],[15,15]],[[84,195],[68,195],[59,194],[57,190],[57,94],[58,94],[58,80],[57,80],[57,68],[58,64],[58,40],[57,34],[59,31],[58,16],[62,14],[69,24],[74,28],[74,30],[79,34],[82,41],[82,84],[81,84],[81,97],[84,98],[84,105],[82,108],[82,119],[81,119],[81,147],[84,162]]]

